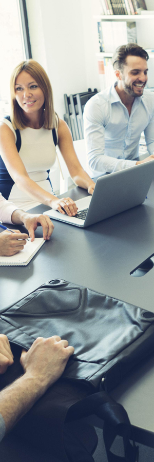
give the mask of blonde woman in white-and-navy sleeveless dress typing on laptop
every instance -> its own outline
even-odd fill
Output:
[[[76,157],[67,124],[54,111],[45,70],[34,60],[23,61],[11,76],[10,118],[0,126],[0,191],[6,199],[24,210],[43,203],[62,214],[77,213],[72,199],[53,194],[49,170],[56,144],[74,183],[92,194],[94,182]]]

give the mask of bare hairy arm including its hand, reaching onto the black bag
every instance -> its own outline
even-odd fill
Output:
[[[56,335],[38,337],[28,352],[22,352],[25,374],[0,393],[0,422],[2,425],[5,422],[6,432],[59,379],[73,353],[74,348],[68,346],[67,340]]]

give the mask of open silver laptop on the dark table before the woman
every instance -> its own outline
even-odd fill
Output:
[[[154,178],[154,160],[104,175],[97,179],[92,196],[75,201],[78,215],[68,217],[57,210],[44,212],[51,219],[85,228],[142,204]]]

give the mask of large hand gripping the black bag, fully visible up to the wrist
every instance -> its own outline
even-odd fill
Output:
[[[36,379],[37,387],[44,393],[63,374],[74,348],[67,340],[54,335],[38,337],[30,350],[23,350],[20,362],[27,376]]]

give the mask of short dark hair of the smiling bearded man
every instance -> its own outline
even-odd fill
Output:
[[[113,68],[122,70],[126,64],[127,56],[140,56],[146,61],[149,59],[148,53],[142,47],[137,45],[137,43],[127,43],[127,45],[118,47],[113,53]]]

